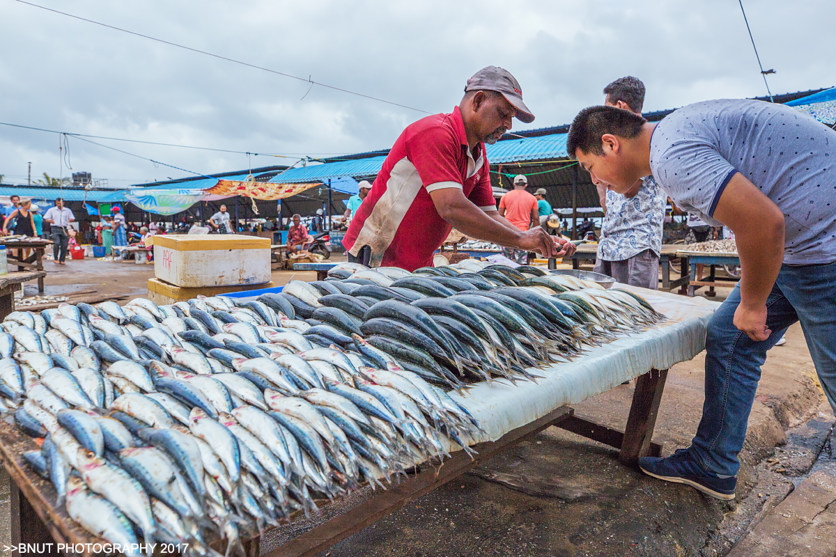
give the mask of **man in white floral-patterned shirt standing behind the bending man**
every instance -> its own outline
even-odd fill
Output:
[[[607,85],[604,94],[604,104],[641,114],[645,84],[628,76]],[[659,286],[665,192],[652,175],[623,195],[609,191],[603,182],[595,185],[604,210],[595,271],[624,284],[655,290]]]

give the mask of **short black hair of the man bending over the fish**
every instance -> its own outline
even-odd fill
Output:
[[[569,127],[566,150],[571,157],[578,149],[587,154],[604,154],[602,135],[630,139],[641,133],[646,122],[638,114],[614,106],[590,106],[575,116]]]

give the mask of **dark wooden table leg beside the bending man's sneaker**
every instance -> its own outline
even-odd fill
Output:
[[[651,369],[636,379],[630,417],[624,428],[624,442],[619,454],[622,463],[635,466],[639,457],[650,453],[650,438],[653,436],[667,377],[668,370]]]

